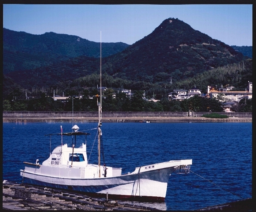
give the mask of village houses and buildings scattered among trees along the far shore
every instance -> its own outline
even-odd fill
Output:
[[[108,89],[106,87],[98,87],[98,90],[102,89],[103,93],[104,90]],[[122,93],[124,93],[127,97],[131,98],[132,93],[131,90],[128,89],[123,89],[121,90]],[[231,107],[233,105],[236,105],[241,99],[252,99],[252,82],[248,81],[248,85],[247,88],[244,91],[236,91],[236,88],[232,85],[221,85],[220,88],[217,88],[217,85],[215,86],[210,86],[208,85],[207,88],[207,93],[202,93],[200,89],[196,88],[196,86],[194,86],[193,88],[189,89],[189,90],[183,90],[183,89],[179,89],[176,90],[174,89],[173,92],[168,93],[168,98],[169,100],[179,100],[182,101],[184,99],[189,99],[190,97],[193,96],[202,96],[205,98],[217,98],[218,96],[221,95],[221,98],[219,99],[220,101],[223,102],[223,109],[225,112],[232,112],[231,111]],[[113,98],[116,97],[116,93],[112,94]],[[145,93],[144,93],[144,97],[143,99],[147,100],[145,97]],[[76,96],[76,98],[82,98],[83,96]],[[57,96],[53,93],[53,97],[54,100],[61,100],[61,101],[65,101],[67,100],[69,97],[61,97],[61,96]],[[93,98],[93,97],[91,97]],[[148,100],[148,101],[160,101],[160,100],[155,100],[154,98]]]

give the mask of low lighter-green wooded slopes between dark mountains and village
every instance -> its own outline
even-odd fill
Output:
[[[189,89],[194,85],[202,90],[203,93],[207,92],[208,85],[221,86],[231,84],[236,87],[236,90],[244,90],[248,81],[252,81],[252,59],[211,69],[197,74],[195,77],[176,81],[172,84],[125,80],[123,78],[109,76],[108,74],[102,75],[102,86],[113,88],[114,92],[121,92],[121,89],[145,90],[148,98],[153,97],[153,95],[167,97],[167,94],[172,92],[173,89]],[[99,85],[99,74],[88,74],[84,77],[76,78],[73,81],[60,82],[50,87],[33,86],[31,89],[24,89],[18,86],[11,78],[4,76],[3,98],[11,100],[13,96],[16,96],[16,98],[20,96],[20,99],[24,99],[25,92],[29,96],[37,96],[41,93],[47,93],[48,96],[53,96],[53,90],[55,90],[55,95],[62,95],[64,92],[65,96],[82,95],[86,90],[96,90],[95,95],[97,93],[97,86]]]

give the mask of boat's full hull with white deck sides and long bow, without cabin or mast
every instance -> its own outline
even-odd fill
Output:
[[[130,198],[135,201],[164,201],[170,174],[177,170],[188,170],[192,160],[168,161],[135,168],[129,174],[97,177],[97,167],[46,166],[24,162],[20,175],[24,182],[49,188],[72,190],[84,194],[95,194],[109,198]],[[90,168],[91,167],[91,168]],[[111,169],[110,169],[111,170]],[[92,195],[91,195],[92,196]]]

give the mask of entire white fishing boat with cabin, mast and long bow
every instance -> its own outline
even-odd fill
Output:
[[[101,93],[100,93],[101,97]],[[101,164],[101,98],[98,104],[98,165],[90,164],[87,159],[86,142],[76,148],[63,144],[63,136],[87,135],[73,126],[73,132],[63,133],[61,127],[61,145],[57,146],[50,157],[42,164],[24,162],[25,169],[20,170],[24,182],[49,188],[72,190],[90,196],[103,196],[113,199],[139,201],[164,201],[167,183],[173,172],[189,173],[192,159],[175,160],[136,167],[128,174],[122,174],[122,168]],[[51,134],[53,135],[53,134]],[[131,159],[132,160],[132,159]],[[156,158],[157,160],[157,158]],[[103,166],[102,166],[103,165]],[[107,172],[105,173],[105,169]]]

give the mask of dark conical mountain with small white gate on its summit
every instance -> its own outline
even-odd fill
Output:
[[[167,82],[170,78],[177,81],[193,77],[242,59],[241,53],[225,43],[170,18],[121,53],[103,58],[102,69],[110,76]]]

